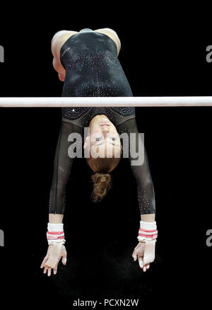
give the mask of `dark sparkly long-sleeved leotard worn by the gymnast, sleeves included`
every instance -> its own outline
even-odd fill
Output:
[[[66,70],[62,91],[64,97],[133,96],[117,58],[117,45],[105,34],[88,29],[72,35],[61,47],[60,60]],[[77,132],[83,137],[84,127],[88,127],[90,120],[100,114],[107,115],[119,134],[139,134],[133,107],[62,108],[49,213],[64,214],[66,183],[73,163],[67,152],[71,144],[68,142],[69,134]],[[129,160],[131,161],[130,152]],[[131,166],[131,170],[136,178],[141,214],[155,213],[153,183],[146,151],[144,163],[141,166]]]

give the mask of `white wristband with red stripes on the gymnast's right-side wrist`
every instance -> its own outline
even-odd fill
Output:
[[[156,222],[143,222],[140,221],[139,229],[139,241],[156,241],[158,237],[158,231]]]

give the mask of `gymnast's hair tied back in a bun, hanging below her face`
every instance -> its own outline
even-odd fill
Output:
[[[122,153],[122,147],[121,152]],[[116,168],[121,156],[118,158],[101,158],[98,157],[96,159],[90,157],[87,159],[88,165],[95,172],[93,176],[91,176],[93,180],[93,192],[91,194],[91,198],[93,202],[99,202],[103,197],[107,194],[108,190],[111,188],[111,175],[110,172]]]

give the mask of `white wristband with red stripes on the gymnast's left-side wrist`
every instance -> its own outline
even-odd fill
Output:
[[[53,224],[48,223],[47,225],[47,241],[48,244],[62,243],[64,244],[66,240],[64,239],[64,224]]]

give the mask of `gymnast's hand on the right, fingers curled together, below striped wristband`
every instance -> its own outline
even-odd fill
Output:
[[[151,243],[139,242],[132,253],[134,262],[139,260],[139,266],[144,272],[150,268],[150,263],[155,259],[155,241]]]

